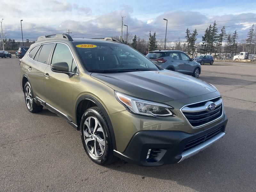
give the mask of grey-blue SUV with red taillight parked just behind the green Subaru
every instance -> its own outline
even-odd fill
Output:
[[[171,71],[192,75],[201,73],[201,66],[182,51],[150,51],[146,57],[158,62],[158,66]]]

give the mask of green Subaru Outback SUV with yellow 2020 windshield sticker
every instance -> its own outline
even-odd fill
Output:
[[[46,107],[66,119],[102,165],[118,157],[142,166],[178,163],[226,134],[213,85],[162,69],[115,41],[40,36],[20,60],[28,110]]]

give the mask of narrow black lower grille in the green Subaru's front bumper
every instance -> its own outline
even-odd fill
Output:
[[[212,137],[218,135],[220,132],[224,132],[224,127],[223,126],[221,128],[215,129],[214,131],[209,132],[209,133],[207,133],[207,134],[205,134],[205,135],[203,135],[199,138],[196,138],[194,140],[189,141],[188,144],[183,149],[183,152],[187,151],[188,149],[194,148],[197,145],[200,145],[201,143],[203,143],[203,142],[211,139]]]

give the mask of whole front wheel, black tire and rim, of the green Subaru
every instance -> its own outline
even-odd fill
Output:
[[[81,118],[80,132],[84,150],[93,162],[107,165],[118,159],[113,153],[113,143],[107,120],[98,107],[88,108],[84,112]]]

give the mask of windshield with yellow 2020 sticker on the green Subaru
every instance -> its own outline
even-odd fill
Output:
[[[124,44],[74,42],[74,45],[84,68],[89,72],[120,73],[159,70],[140,52]]]

